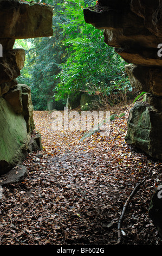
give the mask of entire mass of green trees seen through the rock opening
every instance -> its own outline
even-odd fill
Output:
[[[131,89],[124,60],[105,44],[103,31],[84,20],[83,8],[94,1],[34,2],[54,7],[53,36],[16,40],[16,47],[26,51],[18,82],[31,87],[35,109],[46,109],[51,96],[62,105],[68,96],[75,100],[81,92],[109,95]]]

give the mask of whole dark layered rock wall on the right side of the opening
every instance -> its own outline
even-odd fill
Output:
[[[162,160],[162,1],[99,0],[84,10],[85,21],[104,29],[105,42],[128,63],[132,87],[146,92],[128,118],[126,142]],[[150,217],[162,236],[161,198],[152,198]]]

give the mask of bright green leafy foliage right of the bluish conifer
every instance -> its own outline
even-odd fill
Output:
[[[66,1],[66,23],[62,25],[68,58],[56,76],[56,99],[70,97],[80,91],[95,94],[96,90],[111,94],[112,90],[131,89],[125,74],[124,60],[105,44],[103,31],[88,25],[83,17],[83,0]]]

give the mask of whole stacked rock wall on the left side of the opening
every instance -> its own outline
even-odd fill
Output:
[[[16,81],[25,51],[13,46],[15,39],[53,35],[52,17],[53,9],[47,5],[0,0],[0,175],[22,161],[34,144],[41,148],[40,138],[33,138],[30,88]]]

